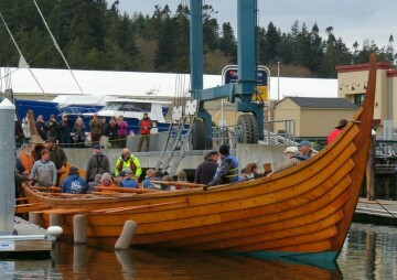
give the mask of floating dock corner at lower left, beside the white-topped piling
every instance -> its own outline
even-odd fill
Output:
[[[55,236],[22,218],[14,218],[13,235],[0,235],[0,256],[26,256],[28,252],[50,256]]]

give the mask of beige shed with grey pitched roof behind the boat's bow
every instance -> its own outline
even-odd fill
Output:
[[[356,109],[346,98],[286,97],[275,107],[275,132],[293,133],[286,131],[281,121],[292,120],[297,138],[326,137],[340,119],[352,118]]]

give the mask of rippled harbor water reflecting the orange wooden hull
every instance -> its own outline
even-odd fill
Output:
[[[2,259],[0,279],[397,279],[397,228],[352,224],[331,266],[198,251],[55,244],[50,259]]]

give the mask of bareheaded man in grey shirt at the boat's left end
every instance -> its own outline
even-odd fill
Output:
[[[56,185],[56,168],[54,162],[50,160],[50,151],[43,149],[40,152],[41,159],[34,162],[30,177],[35,180],[35,185],[55,186]]]

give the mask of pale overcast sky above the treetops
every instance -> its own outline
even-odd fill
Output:
[[[170,6],[172,12],[180,3],[189,0],[119,0],[119,10],[133,14],[142,12],[152,15],[154,6]],[[108,0],[111,4],[114,0]],[[237,0],[203,0],[218,11],[216,19],[230,22],[236,31]],[[355,41],[361,49],[366,39],[374,40],[378,47],[388,44],[389,35],[397,40],[397,0],[258,0],[259,25],[267,28],[271,21],[281,32],[290,32],[296,20],[307,24],[310,31],[316,22],[322,39],[326,39],[325,29],[333,28],[334,35],[342,37],[347,47],[352,49]],[[396,49],[397,41],[394,44]]]

